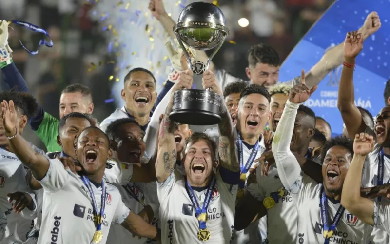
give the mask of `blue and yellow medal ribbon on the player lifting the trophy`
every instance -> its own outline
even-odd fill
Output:
[[[196,200],[194,190],[191,188],[190,183],[186,181],[187,194],[190,197],[192,205],[195,207],[195,216],[199,222],[199,229],[206,229],[207,208],[209,207],[211,196],[213,195],[215,183],[216,183],[216,178],[213,177],[213,179],[211,179],[210,181],[209,188],[206,191],[206,197],[204,198],[203,206],[202,208],[200,208],[199,203]]]

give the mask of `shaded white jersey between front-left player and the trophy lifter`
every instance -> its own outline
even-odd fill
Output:
[[[127,185],[116,185],[122,201],[127,207],[129,207],[134,213],[141,212],[146,205],[153,205],[158,203],[157,199],[157,186],[156,182],[150,183],[129,183]],[[131,191],[131,193],[129,192]],[[134,196],[137,197],[137,200]],[[158,208],[154,209],[154,218],[152,220],[153,226],[158,226]],[[147,238],[133,237],[127,229],[121,225],[112,224],[110,232],[107,238],[107,244],[120,244],[120,243],[131,243],[131,244],[156,244],[157,241]]]

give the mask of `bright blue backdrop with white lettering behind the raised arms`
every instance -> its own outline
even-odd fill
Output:
[[[336,0],[299,41],[280,69],[280,81],[288,81],[320,60],[325,50],[344,41],[348,31],[363,25],[376,11],[382,26],[363,44],[354,72],[355,103],[375,116],[384,106],[383,91],[390,78],[390,0]],[[343,121],[337,109],[337,90],[342,66],[333,70],[305,102],[317,116],[325,118],[332,132],[341,134]]]

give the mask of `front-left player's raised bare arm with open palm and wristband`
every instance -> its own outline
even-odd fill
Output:
[[[41,180],[49,169],[49,160],[45,156],[36,153],[30,144],[19,134],[17,130],[17,115],[12,100],[1,103],[2,123],[5,135],[9,138],[9,144],[20,161],[31,169],[33,176]]]

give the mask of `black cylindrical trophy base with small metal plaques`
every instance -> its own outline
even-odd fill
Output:
[[[180,90],[174,94],[172,121],[191,125],[213,125],[221,122],[220,97],[205,90]]]

